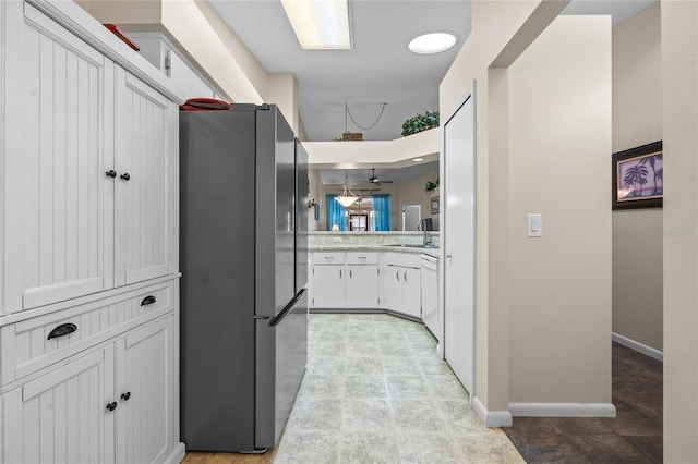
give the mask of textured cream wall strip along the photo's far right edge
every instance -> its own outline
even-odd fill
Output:
[[[698,2],[662,1],[664,462],[698,456]]]

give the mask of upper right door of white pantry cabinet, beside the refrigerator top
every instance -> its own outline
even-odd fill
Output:
[[[178,144],[176,106],[120,68],[116,76],[115,281],[123,285],[168,273]]]

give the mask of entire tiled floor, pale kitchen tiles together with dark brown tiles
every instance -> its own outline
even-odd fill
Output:
[[[515,417],[488,429],[421,323],[311,314],[308,370],[277,449],[183,462],[661,463],[662,363],[614,343],[613,404],[615,418]]]

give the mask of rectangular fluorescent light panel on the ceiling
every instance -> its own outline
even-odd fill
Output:
[[[281,0],[304,50],[349,50],[347,0]]]

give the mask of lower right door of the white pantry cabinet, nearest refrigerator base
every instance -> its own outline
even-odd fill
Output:
[[[117,462],[163,462],[171,442],[169,317],[116,343]]]

